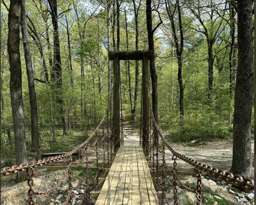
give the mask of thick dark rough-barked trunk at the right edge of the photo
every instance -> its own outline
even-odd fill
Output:
[[[252,176],[251,119],[254,92],[252,0],[237,1],[238,67],[233,122],[231,170]]]

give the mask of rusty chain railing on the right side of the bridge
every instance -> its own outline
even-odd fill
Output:
[[[143,52],[143,61],[144,61],[143,64],[145,65],[145,54],[144,54],[144,52]],[[145,66],[143,66],[142,69],[144,69],[144,72],[146,73]],[[184,189],[186,189],[189,192],[193,192],[195,194],[196,199],[197,199],[197,205],[202,205],[202,172],[207,172],[207,174],[210,174],[213,177],[217,177],[217,178],[225,180],[226,182],[229,182],[229,183],[232,182],[232,184],[235,185],[235,186],[243,186],[243,188],[245,190],[252,191],[254,189],[253,179],[243,178],[241,175],[237,175],[237,174],[234,175],[231,172],[225,172],[225,171],[219,170],[215,167],[197,162],[195,159],[186,157],[185,155],[182,155],[179,152],[175,151],[171,147],[171,145],[169,145],[166,142],[166,140],[164,139],[164,137],[162,135],[162,132],[160,131],[160,129],[159,129],[157,123],[156,123],[156,120],[154,119],[154,114],[153,114],[153,111],[152,111],[150,98],[149,98],[149,91],[148,91],[146,75],[145,75],[144,80],[146,82],[144,89],[146,91],[146,98],[147,98],[147,101],[148,101],[148,104],[149,104],[149,116],[146,116],[146,117],[150,117],[150,127],[149,127],[149,136],[143,136],[143,134],[141,134],[142,136],[140,136],[140,145],[143,145],[141,143],[141,141],[143,141],[143,140],[149,141],[149,144],[146,144],[147,147],[143,147],[143,149],[144,150],[146,149],[146,152],[149,153],[149,155],[150,155],[149,156],[149,163],[150,163],[150,168],[153,169],[153,178],[156,181],[155,189],[157,191],[158,196],[159,196],[159,187],[161,187],[161,189],[162,189],[162,200],[160,200],[160,197],[158,197],[159,198],[159,204],[163,205],[164,201],[165,201],[169,205],[168,199],[167,199],[165,191],[164,191],[164,182],[168,182],[168,184],[173,189],[174,205],[179,205],[179,202],[178,202],[178,199],[177,199],[177,188],[176,188],[177,182],[179,182],[179,184]],[[152,124],[151,124],[151,118],[152,118]],[[154,139],[154,131],[157,132],[156,139]],[[159,136],[160,136],[160,139],[163,141],[162,151],[159,149],[159,146],[158,146]],[[153,139],[153,143],[152,143],[152,139]],[[166,161],[165,161],[165,147],[167,147],[171,151],[171,153],[173,154],[172,160],[174,162],[173,162],[173,169],[172,170],[167,166]],[[160,164],[160,162],[159,162],[159,153],[162,154],[162,164]],[[176,171],[176,165],[177,165],[176,159],[177,158],[180,158],[184,162],[187,162],[188,164],[197,168],[197,171],[196,171],[197,187],[196,187],[196,189],[191,189],[191,188],[187,187],[180,180],[179,176],[177,175],[177,171]],[[167,169],[168,171],[173,172],[173,183],[169,180],[169,178],[167,178],[165,169]],[[159,174],[158,174],[159,170],[161,170],[163,172],[161,180],[159,179]]]

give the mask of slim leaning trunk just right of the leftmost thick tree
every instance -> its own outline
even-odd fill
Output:
[[[25,0],[21,0],[21,32],[23,38],[24,56],[26,61],[27,80],[29,84],[29,101],[31,113],[31,148],[36,151],[40,148],[39,131],[38,131],[38,117],[37,117],[37,100],[34,85],[33,65],[29,47],[29,34],[27,31],[27,17]]]

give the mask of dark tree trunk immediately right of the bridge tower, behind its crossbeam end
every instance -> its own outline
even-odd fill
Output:
[[[151,0],[146,0],[146,17],[147,17],[147,37],[149,41],[149,50],[154,51],[154,34],[152,27],[152,8],[151,8]],[[157,74],[156,74],[156,66],[154,58],[150,60],[150,74],[151,74],[151,82],[152,82],[152,110],[154,114],[154,119],[156,120],[156,124],[159,125],[158,121],[158,110],[157,110]],[[154,131],[154,141],[156,142],[157,132]],[[160,137],[158,139],[160,143]]]

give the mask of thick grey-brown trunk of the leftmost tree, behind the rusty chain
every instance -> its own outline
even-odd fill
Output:
[[[8,15],[8,54],[10,63],[10,94],[11,108],[13,114],[13,130],[16,163],[27,164],[26,135],[23,114],[22,100],[22,73],[20,62],[20,11],[21,2],[19,0],[10,1]],[[18,172],[16,181],[27,179],[26,172]]]

